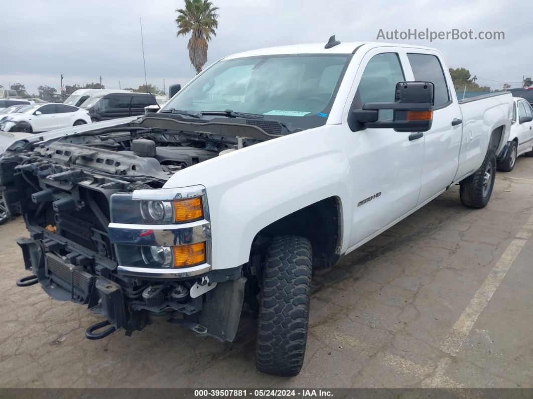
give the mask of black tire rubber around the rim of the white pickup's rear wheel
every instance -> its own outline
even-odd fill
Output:
[[[487,164],[492,162],[492,182],[487,197],[483,197],[483,176]],[[488,150],[483,163],[475,173],[459,183],[459,197],[464,206],[471,208],[483,208],[487,205],[492,195],[494,182],[496,180],[496,154],[494,150]]]

